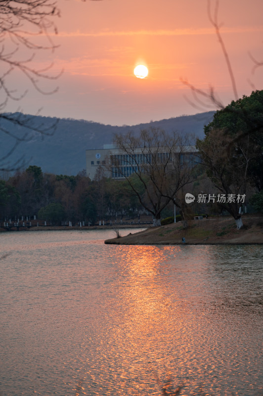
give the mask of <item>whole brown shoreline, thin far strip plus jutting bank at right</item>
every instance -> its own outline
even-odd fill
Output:
[[[237,230],[235,221],[230,216],[210,217],[202,220],[188,220],[188,227],[183,229],[182,222],[160,227],[152,224],[116,224],[82,226],[20,226],[11,229],[0,228],[1,232],[17,231],[93,231],[119,230],[120,238],[105,240],[106,245],[262,245],[263,214],[246,214],[242,216],[243,229]],[[122,229],[130,229],[130,234],[121,236]],[[143,229],[132,233],[133,229]],[[182,237],[186,243],[182,242]]]

